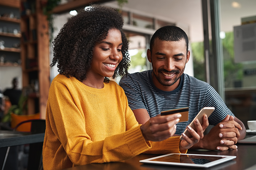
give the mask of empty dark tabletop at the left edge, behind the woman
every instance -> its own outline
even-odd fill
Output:
[[[0,130],[0,148],[44,142],[44,133],[30,134]]]

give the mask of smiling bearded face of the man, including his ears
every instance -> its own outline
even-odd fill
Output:
[[[152,63],[153,83],[158,89],[171,91],[180,83],[180,76],[190,58],[190,51],[186,53],[186,42],[161,41],[155,39],[152,53],[147,50],[147,58]]]

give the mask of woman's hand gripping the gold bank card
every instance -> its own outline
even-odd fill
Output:
[[[181,114],[171,114],[149,119],[141,126],[142,135],[145,140],[162,141],[174,135],[176,123],[179,122]]]

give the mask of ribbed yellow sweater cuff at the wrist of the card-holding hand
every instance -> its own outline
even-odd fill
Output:
[[[141,154],[151,148],[151,143],[146,142],[142,135],[141,125],[126,131],[125,142],[134,155]]]

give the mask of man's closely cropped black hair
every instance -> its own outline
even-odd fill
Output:
[[[153,34],[150,40],[151,53],[156,38],[160,39],[161,41],[180,41],[184,39],[186,42],[186,52],[188,53],[188,36],[179,27],[176,27],[174,25],[168,25],[156,30],[156,32]]]

